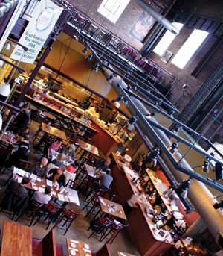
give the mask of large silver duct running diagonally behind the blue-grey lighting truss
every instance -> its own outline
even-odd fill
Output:
[[[111,75],[112,73],[109,69],[106,69],[105,67],[103,67],[103,70],[103,74],[106,76],[106,78],[108,78],[109,75]],[[127,84],[123,80],[121,80],[119,76],[114,78],[111,86],[118,94],[121,93],[119,84],[121,84],[121,86],[124,88],[127,87]],[[132,105],[129,102],[128,110],[132,114],[132,116],[135,116],[136,114],[133,104],[135,104],[135,106],[138,108],[139,113],[143,114],[144,116],[149,114],[149,111],[138,99],[135,99],[132,96],[130,96],[129,98],[131,98],[132,100]],[[155,144],[157,144],[160,147],[164,145],[171,146],[172,142],[168,139],[166,134],[164,134],[164,132],[158,128],[154,128],[151,125],[145,125],[145,122],[141,115],[138,116],[137,123],[140,126],[140,129],[143,131],[145,137],[149,138],[149,141],[152,143],[152,146],[155,146]],[[179,152],[175,153],[175,160],[179,161],[181,160],[181,157],[182,156]],[[188,178],[187,175],[176,169],[174,163],[172,163],[172,160],[170,159],[168,154],[162,154],[161,159],[164,161],[165,165],[169,169],[169,172],[171,172],[172,175],[175,177],[176,181],[181,182],[182,180]],[[185,166],[188,169],[191,169],[190,165],[184,159],[181,160],[181,165]],[[213,237],[218,237],[220,231],[223,233],[223,219],[221,211],[216,210],[213,207],[217,200],[214,198],[213,194],[210,193],[210,190],[208,190],[203,183],[193,179],[192,184],[190,185],[190,188],[188,190],[187,198],[190,199],[190,202],[198,211],[199,215],[201,216],[201,219],[203,219],[205,225],[207,225],[210,232],[213,234]],[[193,228],[191,229],[193,230]]]

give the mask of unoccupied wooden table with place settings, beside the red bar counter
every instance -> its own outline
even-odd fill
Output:
[[[115,216],[120,219],[127,219],[122,205],[112,202],[109,199],[105,199],[101,196],[99,197],[99,202],[101,211],[106,213],[106,215]]]

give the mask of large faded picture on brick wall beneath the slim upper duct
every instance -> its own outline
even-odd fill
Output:
[[[149,13],[143,11],[139,16],[138,20],[133,24],[131,30],[129,31],[129,34],[142,42],[146,35],[149,33],[154,23],[155,19],[151,15],[149,15]]]

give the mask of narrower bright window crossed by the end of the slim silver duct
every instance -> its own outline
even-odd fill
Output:
[[[178,22],[172,22],[172,25],[175,25],[176,28],[180,31],[181,28],[183,28],[184,24],[178,23]],[[170,43],[175,39],[176,35],[170,32],[169,30],[164,34],[164,36],[161,38],[157,46],[155,46],[155,49],[153,51],[162,56],[164,52],[169,47]]]

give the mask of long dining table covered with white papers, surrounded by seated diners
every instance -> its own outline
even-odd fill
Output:
[[[51,196],[55,199],[59,199],[59,201],[64,202],[63,203],[64,207],[68,203],[80,206],[77,190],[72,190],[69,187],[58,188],[54,186],[53,182],[48,179],[38,177],[33,173],[30,174],[29,172],[25,172],[22,169],[18,169],[14,167],[13,178],[15,178],[16,175],[18,176],[17,179],[19,183],[22,181],[23,177],[30,178],[30,182],[28,184],[25,184],[25,187],[29,190],[44,192],[46,186],[51,186],[52,187]]]

